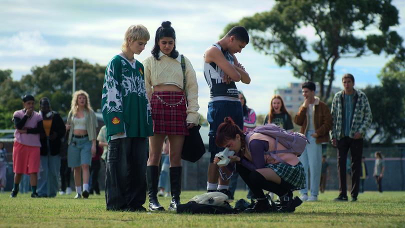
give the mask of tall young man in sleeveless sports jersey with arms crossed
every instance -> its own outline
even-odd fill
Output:
[[[216,146],[215,135],[218,125],[226,116],[231,116],[236,124],[243,128],[243,110],[235,82],[249,84],[250,77],[242,64],[237,61],[235,53],[240,53],[248,42],[247,30],[242,26],[235,26],[204,53],[204,77],[210,93],[207,120],[208,151],[211,153],[206,189],[208,192],[221,191],[230,199],[233,197],[228,189],[229,180],[219,178],[218,166],[213,163],[214,155],[223,149]]]

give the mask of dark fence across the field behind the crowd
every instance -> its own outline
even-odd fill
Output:
[[[0,138],[0,141],[4,143],[7,149],[7,185],[6,190],[10,190],[12,187],[13,173],[12,173],[12,138]],[[207,150],[207,145],[206,145]],[[375,180],[372,176],[374,167],[375,151],[381,151],[385,160],[385,171],[382,179],[383,190],[405,190],[405,146],[392,146],[392,147],[367,147],[363,149],[363,155],[368,171],[368,178],[364,182],[365,190],[377,190]],[[338,189],[337,178],[337,159],[336,149],[323,145],[323,154],[327,155],[327,162],[329,163],[329,173],[326,181],[326,190]],[[184,190],[204,190],[206,189],[207,181],[207,167],[209,163],[210,154],[206,152],[201,159],[195,163],[182,161],[182,189]],[[349,157],[349,156],[348,156]],[[347,173],[348,175],[350,173]],[[310,175],[310,173],[309,173]],[[105,168],[101,165],[99,173],[100,187],[104,188]],[[350,189],[350,178],[347,178],[348,188]],[[71,177],[71,186],[73,186],[73,178]],[[237,189],[245,189],[245,184],[238,179]]]

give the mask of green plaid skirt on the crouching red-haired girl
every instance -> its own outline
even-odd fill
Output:
[[[285,163],[266,164],[266,168],[271,168],[285,182],[294,186],[291,190],[305,188],[305,172],[301,162],[295,166]]]

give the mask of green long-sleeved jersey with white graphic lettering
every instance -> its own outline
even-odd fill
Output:
[[[146,98],[143,65],[115,55],[105,69],[102,86],[102,117],[111,135],[124,132],[126,137],[153,135],[150,104]]]

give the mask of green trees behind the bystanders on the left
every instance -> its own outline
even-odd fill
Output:
[[[104,71],[105,66],[76,59],[76,89],[83,89],[89,94],[94,110],[101,108]],[[0,87],[2,112],[9,111],[12,114],[21,109],[21,97],[30,93],[36,101],[43,96],[48,97],[53,110],[66,114],[70,109],[72,95],[72,59],[53,59],[47,65],[34,66],[31,73],[23,75],[19,81],[12,80],[11,70],[0,70]],[[35,109],[39,109],[38,102]],[[9,126],[0,122],[0,128]]]

